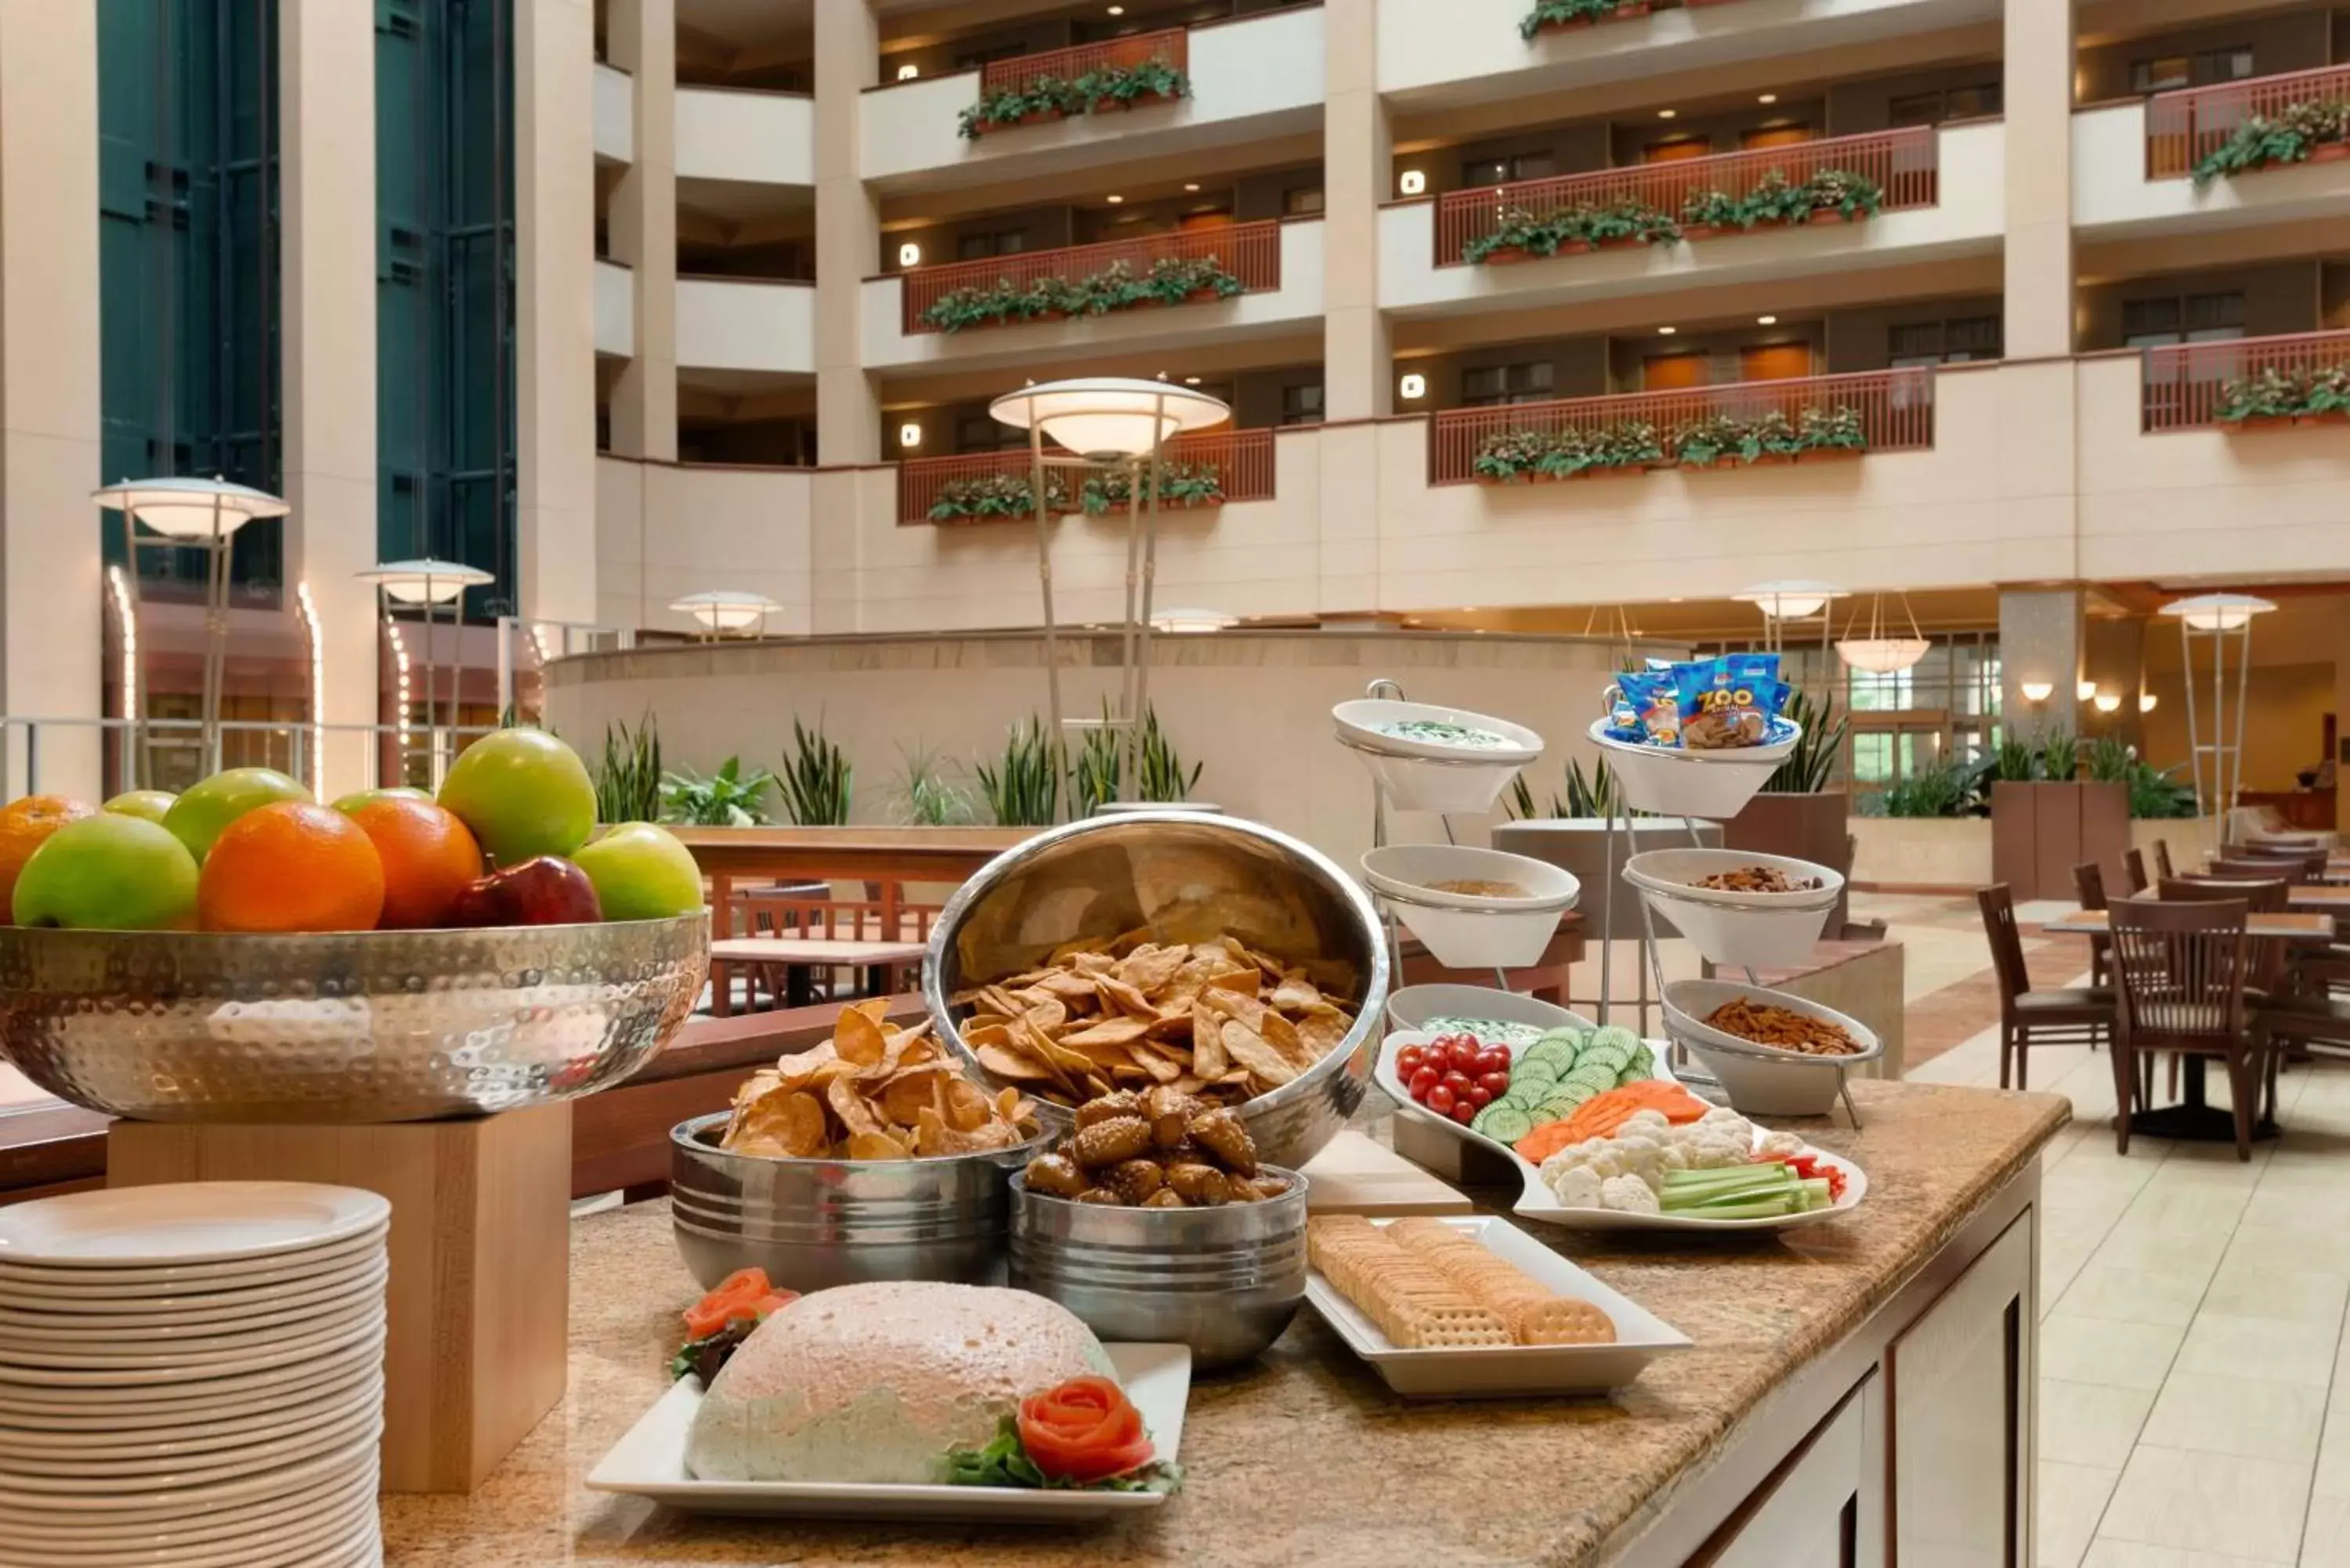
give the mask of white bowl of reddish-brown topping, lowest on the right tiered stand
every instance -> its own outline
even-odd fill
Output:
[[[1737,980],[1668,980],[1664,1032],[1720,1079],[1741,1117],[1826,1117],[1845,1072],[1885,1056],[1859,1018]]]

